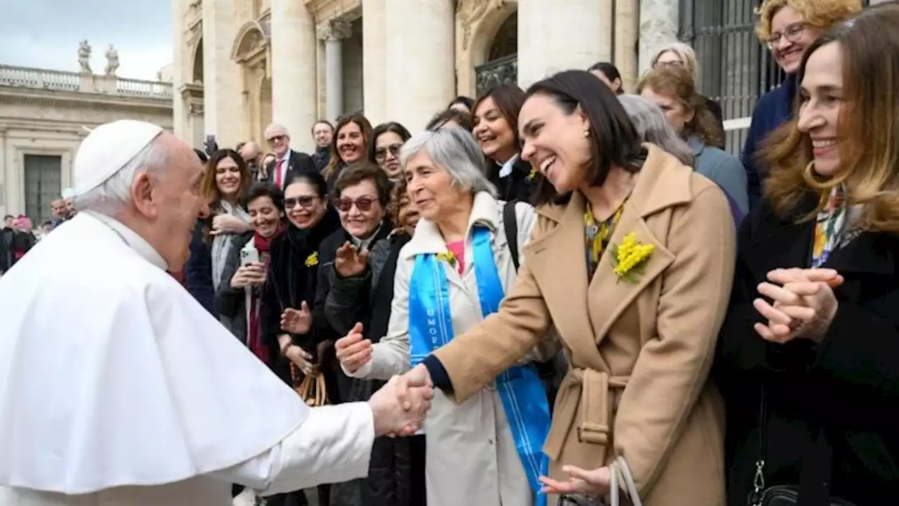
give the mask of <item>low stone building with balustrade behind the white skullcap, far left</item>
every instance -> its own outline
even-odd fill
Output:
[[[45,199],[38,204],[33,195],[58,197],[71,185],[72,160],[87,129],[136,119],[173,130],[172,97],[168,83],[0,66],[0,214],[48,216],[49,203],[44,209]],[[58,164],[58,174],[27,173],[36,158]]]

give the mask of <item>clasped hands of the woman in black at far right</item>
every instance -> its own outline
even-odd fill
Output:
[[[838,303],[833,288],[843,277],[833,269],[774,269],[759,294],[769,297],[752,302],[768,324],[756,323],[755,331],[766,340],[785,343],[796,338],[819,341],[830,328]]]

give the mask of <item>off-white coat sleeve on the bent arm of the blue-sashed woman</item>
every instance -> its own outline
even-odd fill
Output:
[[[350,373],[342,366],[345,375],[387,381],[412,368],[409,362],[409,266],[411,264],[411,261],[403,259],[401,250],[400,259],[396,262],[394,299],[390,304],[387,336],[372,345],[371,360],[355,373]]]

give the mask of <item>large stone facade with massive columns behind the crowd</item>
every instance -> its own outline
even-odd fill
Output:
[[[359,110],[414,131],[516,55],[521,86],[601,59],[636,80],[639,0],[172,1],[175,133],[195,146],[263,143],[274,121],[310,150],[313,122]]]

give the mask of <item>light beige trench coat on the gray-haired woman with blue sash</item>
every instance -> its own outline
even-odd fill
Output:
[[[530,239],[536,214],[530,205],[518,203],[516,217],[518,243],[523,245]],[[516,276],[511,253],[506,247],[503,203],[489,194],[477,194],[469,220],[465,271],[459,276],[455,268],[447,265],[449,306],[456,335],[483,321],[475,272],[470,262],[471,224],[478,221],[495,230],[494,258],[506,293]],[[387,336],[374,345],[369,364],[353,376],[387,380],[410,368],[409,278],[415,257],[446,250],[437,227],[430,221],[419,222],[413,239],[400,251],[396,264]],[[523,251],[521,263],[524,264]],[[527,476],[505,418],[503,401],[494,389],[493,380],[470,393],[461,404],[451,402],[442,393],[435,393],[424,430],[428,506],[530,506],[533,503]]]

